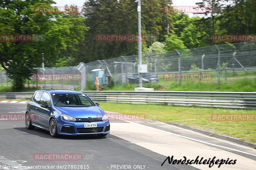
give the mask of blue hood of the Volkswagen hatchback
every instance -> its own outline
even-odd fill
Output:
[[[105,112],[98,106],[90,107],[55,107],[62,114],[70,115],[75,118],[103,117]]]

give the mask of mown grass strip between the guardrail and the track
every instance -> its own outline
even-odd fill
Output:
[[[100,107],[106,111],[126,115],[143,115],[151,120],[180,123],[197,129],[211,131],[212,133],[237,137],[244,141],[256,143],[256,121],[216,122],[211,120],[212,114],[256,115],[255,109],[182,107],[108,102],[101,102]]]

